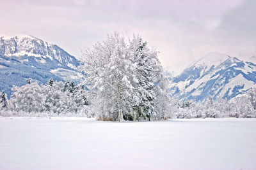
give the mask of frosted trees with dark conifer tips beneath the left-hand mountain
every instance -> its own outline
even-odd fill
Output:
[[[31,79],[22,87],[14,86],[10,100],[1,92],[1,113],[19,116],[81,116],[87,117],[89,103],[84,86],[72,81],[49,80],[47,85],[38,85]]]

